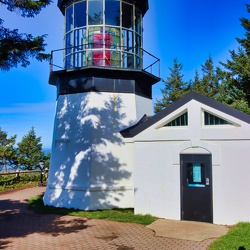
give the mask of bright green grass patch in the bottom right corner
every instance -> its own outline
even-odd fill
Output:
[[[248,250],[250,249],[250,223],[236,224],[226,235],[216,240],[209,250]]]

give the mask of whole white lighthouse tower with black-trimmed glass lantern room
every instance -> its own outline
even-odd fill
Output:
[[[52,51],[57,90],[45,205],[134,206],[134,144],[120,131],[152,115],[159,59],[143,49],[148,0],[59,0],[64,48]],[[143,152],[142,152],[143,154]]]

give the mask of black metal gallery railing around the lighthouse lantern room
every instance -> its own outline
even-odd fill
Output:
[[[50,72],[89,66],[138,69],[160,77],[160,59],[139,47],[107,47],[103,44],[95,48],[91,43],[51,52]]]

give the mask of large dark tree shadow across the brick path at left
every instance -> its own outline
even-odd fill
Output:
[[[58,236],[87,228],[87,219],[55,214],[38,214],[27,210],[27,203],[0,200],[0,249],[8,244],[5,239],[40,233]]]

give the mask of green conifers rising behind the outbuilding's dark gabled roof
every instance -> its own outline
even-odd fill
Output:
[[[246,7],[250,13],[250,4],[246,4]],[[156,100],[155,112],[161,111],[192,90],[250,114],[250,20],[241,18],[240,21],[246,30],[245,37],[236,38],[238,50],[230,51],[231,58],[225,63],[221,62],[221,67],[215,67],[209,56],[201,65],[201,76],[197,70],[194,79],[187,84],[183,81],[182,64],[174,59],[170,76],[166,81],[163,80],[163,97]]]

